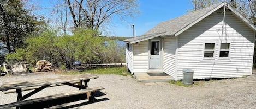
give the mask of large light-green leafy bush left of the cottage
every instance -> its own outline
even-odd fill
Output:
[[[96,34],[93,30],[78,29],[73,35],[58,36],[57,31],[47,30],[38,37],[29,37],[26,49],[17,49],[5,60],[33,64],[47,60],[67,68],[72,68],[75,60],[86,64],[124,62],[124,48],[118,47],[114,41],[105,44],[104,38]]]

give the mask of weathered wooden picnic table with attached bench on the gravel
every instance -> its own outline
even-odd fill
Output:
[[[76,87],[79,90],[81,90],[81,89],[86,89],[88,87],[87,83],[90,81],[90,79],[96,79],[96,78],[98,78],[98,76],[94,75],[94,74],[78,74],[78,75],[62,75],[57,78],[45,78],[45,79],[37,79],[37,80],[29,80],[29,81],[25,80],[25,81],[15,81],[15,82],[4,82],[0,86],[0,91],[10,91],[11,92],[11,91],[16,90],[17,102],[14,102],[12,104],[6,104],[6,106],[13,105],[12,107],[15,107],[14,105],[16,105],[16,107],[19,108],[19,106],[29,104],[26,102],[22,103],[23,100],[27,99],[28,97],[31,97],[35,93],[40,92],[44,88],[52,87],[52,86],[59,86],[59,85],[68,85],[68,86]],[[84,85],[82,83],[84,83]],[[29,88],[29,90],[33,89],[33,91],[31,91],[25,95],[22,95],[22,91],[26,91],[26,89],[28,89],[28,88]],[[104,89],[104,88],[99,87],[99,88],[87,89],[87,91],[86,91],[87,98],[88,98],[88,96],[90,96],[91,92],[98,91],[100,89]],[[63,94],[58,94],[57,95],[58,97],[57,96],[56,97],[51,96],[51,97],[56,99],[56,98],[62,97],[63,95],[67,96],[68,94],[75,94],[75,93],[81,94],[84,92],[80,91],[80,92],[72,92],[72,93],[63,93]],[[44,100],[42,100],[42,99],[44,99]],[[46,99],[40,98],[39,101],[45,101],[47,99],[50,99],[50,97],[46,97]],[[28,101],[29,100],[27,100],[27,102]],[[37,101],[37,99],[34,99],[34,101]],[[29,102],[31,103],[33,101],[30,100]],[[1,107],[4,108],[4,106],[5,105],[0,105],[0,108]]]

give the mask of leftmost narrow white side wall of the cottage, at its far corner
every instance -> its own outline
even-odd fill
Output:
[[[131,73],[133,73],[133,52],[132,44],[129,44],[129,48],[126,47],[126,64]]]

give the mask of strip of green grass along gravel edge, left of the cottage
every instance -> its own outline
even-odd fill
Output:
[[[84,74],[84,73],[91,73],[91,74],[116,74],[116,75],[129,75],[126,72],[126,67],[112,67],[112,68],[96,68],[96,69],[89,69],[84,70],[82,72],[79,71],[67,71],[63,72],[63,74]]]

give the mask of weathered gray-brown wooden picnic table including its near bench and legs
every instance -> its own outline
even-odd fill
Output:
[[[0,109],[10,108],[10,107],[20,108],[23,105],[29,105],[35,102],[43,102],[47,100],[70,97],[70,96],[79,95],[79,94],[85,94],[85,97],[87,97],[87,99],[91,102],[94,100],[93,93],[104,89],[103,87],[88,88],[87,83],[90,81],[90,79],[96,79],[96,78],[98,78],[98,76],[94,74],[79,74],[79,75],[63,75],[58,78],[5,82],[2,84],[2,86],[0,86],[0,91],[5,91],[5,94],[16,92],[17,102],[0,105]],[[44,88],[61,86],[61,85],[76,87],[79,90],[26,100],[28,97],[31,97],[35,93],[40,92]],[[25,95],[22,95],[22,91],[28,91],[28,90],[33,90],[33,91]]]

